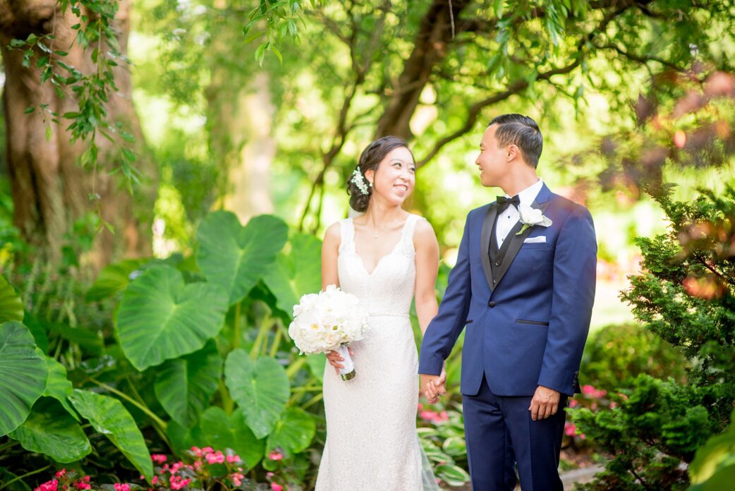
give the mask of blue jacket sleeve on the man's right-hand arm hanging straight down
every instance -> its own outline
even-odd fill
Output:
[[[553,259],[553,294],[538,384],[573,395],[595,301],[597,241],[592,216],[576,207],[564,221]]]

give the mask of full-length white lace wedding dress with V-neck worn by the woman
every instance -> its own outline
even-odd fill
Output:
[[[352,344],[356,377],[324,370],[326,445],[317,491],[438,490],[416,433],[418,361],[409,309],[415,292],[409,215],[401,240],[372,273],[355,250],[352,218],[340,221],[340,287],[370,314],[370,334]],[[422,465],[423,461],[423,465]]]

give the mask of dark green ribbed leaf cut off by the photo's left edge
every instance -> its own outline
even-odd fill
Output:
[[[31,331],[15,321],[0,324],[0,437],[26,420],[48,372]]]

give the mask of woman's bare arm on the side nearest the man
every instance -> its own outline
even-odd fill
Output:
[[[429,322],[437,315],[437,271],[439,270],[439,243],[434,229],[426,220],[416,223],[414,232],[416,250],[416,314],[421,335]]]

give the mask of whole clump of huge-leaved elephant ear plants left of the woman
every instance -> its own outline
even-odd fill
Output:
[[[98,317],[76,325],[24,312],[0,279],[0,480],[73,467],[151,484],[151,451],[191,448],[229,449],[261,483],[312,479],[323,357],[296,356],[285,326],[320,288],[320,247],[274,216],[211,212],[192,256],[104,268],[84,295]]]

